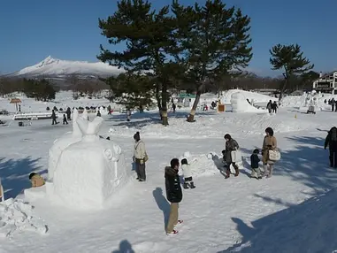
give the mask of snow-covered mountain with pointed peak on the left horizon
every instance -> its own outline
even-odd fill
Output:
[[[123,72],[123,70],[102,62],[89,63],[86,61],[69,61],[48,57],[36,65],[27,66],[18,72],[8,74],[8,76],[62,79],[70,75],[106,77],[117,75],[121,72]]]

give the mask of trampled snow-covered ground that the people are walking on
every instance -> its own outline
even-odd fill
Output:
[[[27,106],[44,111],[47,104],[30,101]],[[133,180],[113,199],[112,208],[103,211],[72,211],[43,199],[0,203],[0,226],[11,220],[8,223],[14,224],[10,227],[15,231],[0,238],[0,252],[297,253],[337,249],[333,226],[337,171],[328,167],[328,151],[323,149],[334,112],[312,115],[293,107],[282,107],[276,115],[206,111],[197,114],[195,123],[186,122],[187,114],[170,113],[170,126],[160,125],[157,111],[135,113],[131,122],[119,113],[103,116],[99,134],[120,145],[130,170],[133,135],[141,133],[149,154],[147,181]],[[261,148],[267,126],[275,130],[282,157],[271,179],[252,180],[249,156]],[[29,173],[47,176],[49,149],[70,130],[71,125],[51,126],[50,120],[0,127],[0,177],[6,198],[30,187]],[[241,146],[242,165],[239,177],[225,180],[217,165],[227,133]],[[164,168],[185,152],[198,163],[196,188],[183,191],[180,233],[167,236],[170,206],[165,199]],[[22,226],[12,222],[16,217],[11,213],[17,212]],[[5,235],[8,228],[0,227],[0,234]]]

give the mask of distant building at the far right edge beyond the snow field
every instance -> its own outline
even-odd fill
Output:
[[[314,80],[312,88],[316,91],[337,94],[337,71],[326,73],[323,75],[319,73],[319,78]]]

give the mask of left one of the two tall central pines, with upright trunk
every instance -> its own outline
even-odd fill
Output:
[[[168,15],[169,6],[158,12],[149,1],[121,0],[118,10],[108,19],[99,19],[99,27],[110,44],[124,42],[126,50],[105,50],[97,57],[110,65],[124,68],[127,73],[145,73],[156,79],[155,93],[163,124],[168,125],[168,88],[172,71],[176,70],[170,56],[177,50],[174,40],[175,20]]]

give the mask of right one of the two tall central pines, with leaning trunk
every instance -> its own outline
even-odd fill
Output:
[[[172,12],[182,50],[180,61],[185,64],[188,79],[195,83],[195,103],[188,117],[193,122],[206,82],[222,73],[240,73],[249,64],[250,19],[240,9],[226,8],[220,0],[207,0],[203,6],[183,6],[174,0]]]

